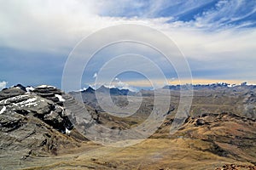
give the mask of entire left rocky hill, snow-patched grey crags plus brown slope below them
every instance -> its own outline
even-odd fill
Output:
[[[60,149],[79,145],[73,124],[63,107],[61,90],[50,86],[23,86],[0,92],[0,155],[11,161],[29,156],[57,155]],[[76,134],[76,136],[78,136]]]

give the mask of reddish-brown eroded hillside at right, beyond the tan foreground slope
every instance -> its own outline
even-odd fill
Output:
[[[230,112],[189,116],[176,133],[169,135],[172,122],[173,119],[166,120],[151,138],[193,139],[189,147],[195,150],[200,148],[199,150],[211,152],[216,156],[231,157],[252,164],[256,162],[256,122],[254,118]],[[196,144],[199,146],[195,146]]]

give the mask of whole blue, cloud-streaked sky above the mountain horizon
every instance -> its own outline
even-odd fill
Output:
[[[114,26],[122,24],[148,26],[169,37],[189,65],[193,83],[256,84],[255,0],[0,0],[0,89],[17,83],[61,88],[65,65],[84,37],[109,26],[121,35],[122,30]],[[152,32],[138,31],[134,38],[136,35],[163,40]],[[104,40],[108,35],[92,39],[90,46]],[[87,47],[83,48],[81,58],[90,58],[90,62],[84,65],[80,88],[102,83],[119,88],[147,87],[152,80],[160,86],[180,82],[175,72],[179,64],[168,63],[145,44],[113,44],[92,58],[86,55]],[[131,52],[137,57],[129,55]],[[121,54],[125,54],[125,62],[117,59],[119,63],[110,67],[111,59]],[[80,68],[79,59],[71,66],[73,74]],[[126,69],[113,75],[113,66],[126,68],[128,64],[141,72]],[[95,82],[104,65],[109,66],[102,69],[104,77],[111,75],[112,82]],[[155,65],[165,81],[151,69]],[[183,77],[183,82],[189,78]],[[73,81],[68,81],[67,90],[72,90]]]

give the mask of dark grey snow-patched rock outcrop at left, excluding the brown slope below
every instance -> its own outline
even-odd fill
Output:
[[[24,116],[34,116],[55,128],[61,133],[73,129],[73,124],[69,121],[63,102],[55,95],[61,94],[61,90],[51,86],[39,86],[32,93],[25,94],[21,85],[15,88],[3,90],[0,101],[0,127],[4,132],[14,130],[20,126]],[[54,97],[52,97],[54,96]],[[64,100],[64,99],[63,99]],[[6,111],[5,111],[6,110]]]

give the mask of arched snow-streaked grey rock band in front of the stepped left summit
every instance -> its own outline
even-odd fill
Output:
[[[22,94],[3,99],[0,101],[0,109],[4,110],[1,114],[0,125],[4,124],[2,117],[5,122],[12,122],[15,117],[35,116],[61,133],[65,133],[66,128],[68,130],[73,128],[61,105],[36,94]],[[16,122],[20,121],[16,120]]]

